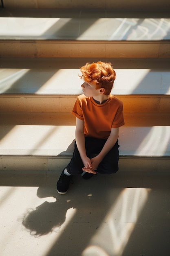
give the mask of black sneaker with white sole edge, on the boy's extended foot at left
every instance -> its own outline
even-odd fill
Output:
[[[65,169],[65,168],[64,168]],[[68,176],[64,174],[64,170],[60,175],[60,178],[57,181],[57,192],[59,194],[66,194],[69,188],[70,183],[73,183],[71,180],[72,175]]]

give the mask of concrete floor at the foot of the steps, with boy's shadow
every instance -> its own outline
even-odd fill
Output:
[[[169,172],[75,176],[66,195],[59,175],[0,180],[1,256],[170,255]]]

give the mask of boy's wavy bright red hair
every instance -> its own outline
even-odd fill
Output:
[[[80,71],[82,72],[82,76],[80,76],[81,79],[84,79],[84,81],[88,83],[94,83],[96,89],[104,88],[105,95],[110,94],[116,78],[116,72],[111,63],[102,61],[88,62],[85,66],[80,68]]]

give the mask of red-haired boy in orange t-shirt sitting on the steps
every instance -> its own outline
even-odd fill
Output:
[[[110,63],[86,63],[80,68],[84,94],[77,97],[72,110],[76,117],[75,147],[71,162],[62,171],[57,191],[68,191],[71,177],[82,174],[89,179],[97,173],[118,171],[119,127],[124,125],[123,103],[110,94],[116,78]]]

